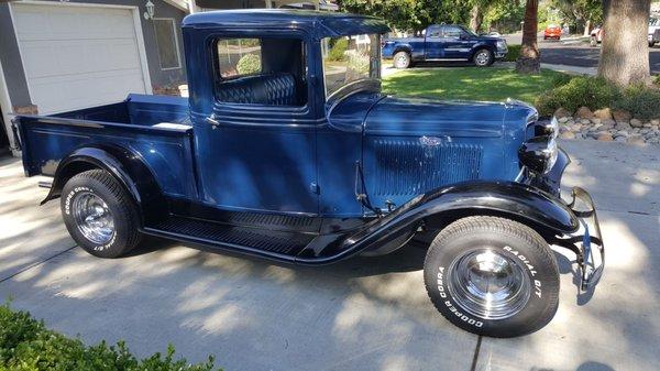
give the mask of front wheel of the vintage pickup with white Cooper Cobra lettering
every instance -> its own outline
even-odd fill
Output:
[[[425,260],[425,284],[436,308],[470,332],[515,337],[552,319],[559,270],[531,228],[496,217],[468,217],[444,228]]]

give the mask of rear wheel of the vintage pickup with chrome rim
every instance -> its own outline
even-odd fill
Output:
[[[139,214],[123,186],[103,170],[72,177],[62,192],[62,217],[74,240],[99,258],[118,258],[140,241]]]

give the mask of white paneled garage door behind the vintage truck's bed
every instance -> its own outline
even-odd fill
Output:
[[[145,92],[131,9],[12,3],[32,102],[41,114]]]

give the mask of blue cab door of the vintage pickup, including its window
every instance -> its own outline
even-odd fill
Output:
[[[209,44],[215,102],[210,116],[195,119],[204,203],[230,210],[318,214],[305,44],[290,35],[217,36]]]

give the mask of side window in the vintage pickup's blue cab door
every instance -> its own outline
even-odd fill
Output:
[[[224,103],[302,107],[307,61],[300,39],[217,39],[216,100]]]

